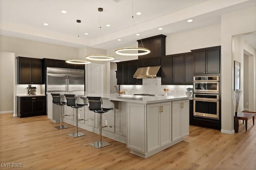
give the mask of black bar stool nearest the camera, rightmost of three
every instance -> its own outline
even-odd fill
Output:
[[[112,108],[103,108],[103,102],[101,97],[87,97],[88,99],[88,109],[90,111],[94,111],[95,113],[100,114],[100,125],[99,125],[99,130],[100,130],[100,140],[90,143],[91,146],[94,146],[96,148],[103,148],[105,146],[111,145],[110,143],[106,141],[102,141],[102,128],[104,127],[112,127],[108,125],[102,125],[102,113],[106,113]]]

